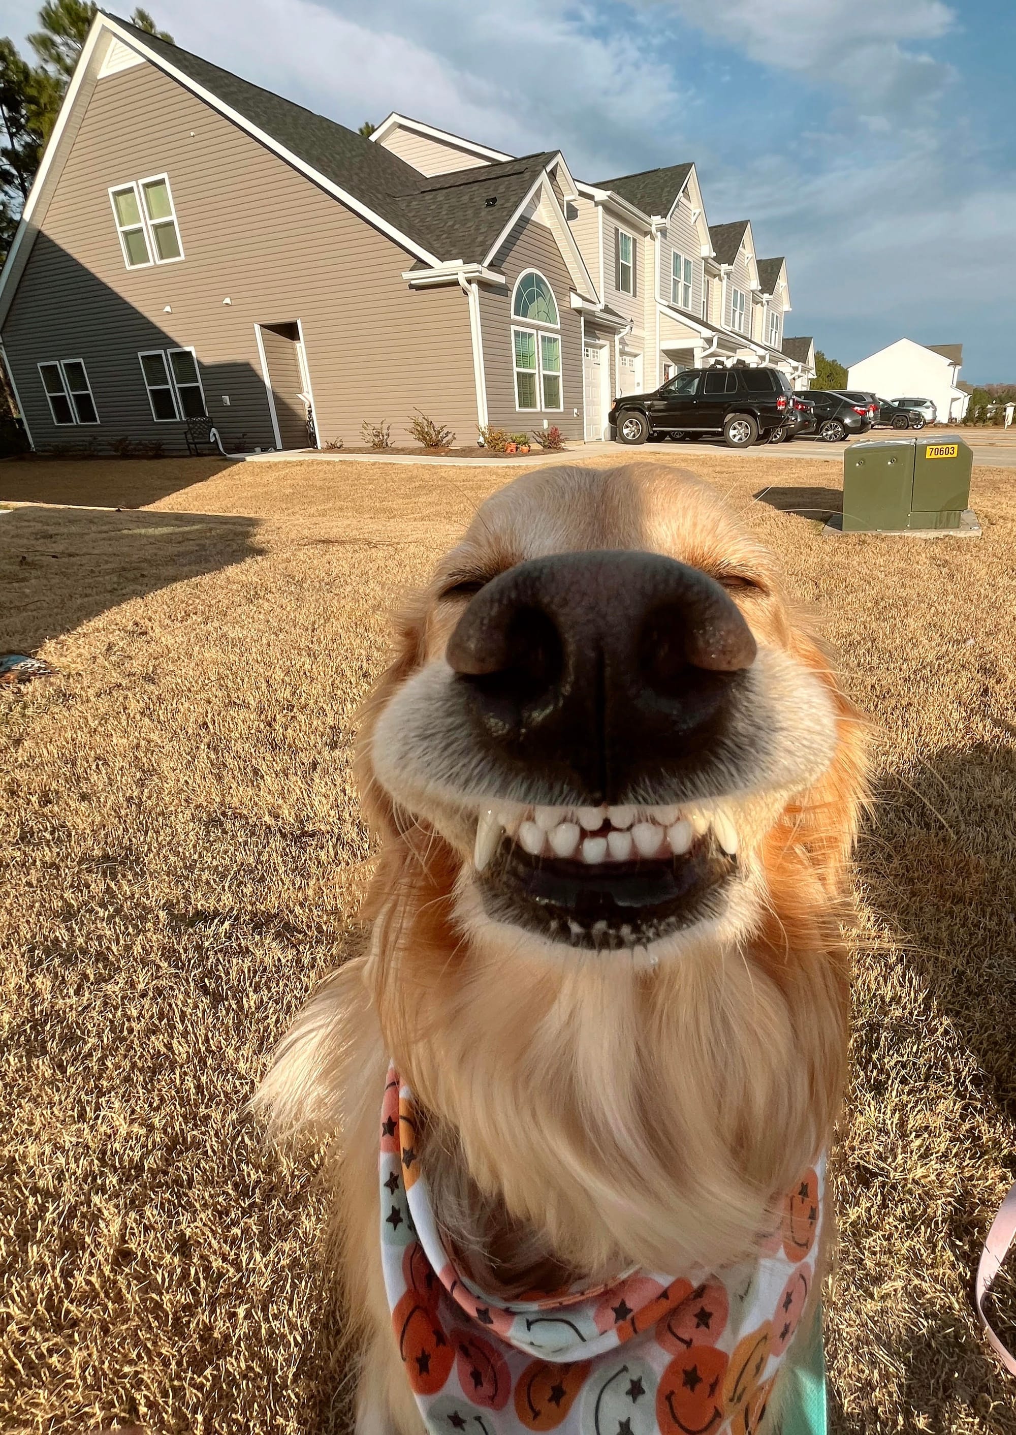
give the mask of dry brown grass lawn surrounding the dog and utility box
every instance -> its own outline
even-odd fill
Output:
[[[877,723],[837,1428],[1013,1435],[970,1286],[1016,1142],[1016,478],[976,472],[980,542],[827,540],[752,494],[835,507],[834,466],[659,452],[782,554]],[[148,504],[0,517],[0,651],[60,669],[0,700],[3,1431],[346,1428],[316,1157],[265,1154],[244,1102],[359,940],[385,610],[508,476],[0,465],[0,501]]]

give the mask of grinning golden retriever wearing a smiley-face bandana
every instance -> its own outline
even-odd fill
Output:
[[[679,469],[521,476],[402,611],[356,766],[369,947],[257,1099],[334,1137],[357,1435],[778,1428],[865,743],[773,557]]]

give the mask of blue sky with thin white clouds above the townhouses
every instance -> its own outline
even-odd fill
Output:
[[[116,9],[108,0],[110,9]],[[178,44],[359,125],[390,109],[583,179],[693,159],[844,363],[908,336],[1016,382],[1012,0],[149,0]],[[123,11],[129,4],[123,4]],[[14,39],[36,4],[4,0]]]

